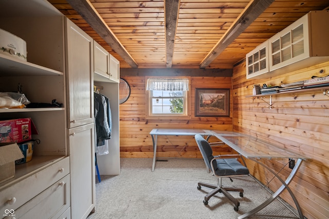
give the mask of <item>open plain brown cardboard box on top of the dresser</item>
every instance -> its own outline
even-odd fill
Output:
[[[15,176],[15,161],[23,157],[16,143],[0,143],[0,183]]]

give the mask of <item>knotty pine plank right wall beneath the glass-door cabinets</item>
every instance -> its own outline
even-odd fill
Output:
[[[320,73],[322,72],[322,73]],[[245,97],[252,94],[253,84],[280,85],[308,79],[312,75],[329,74],[329,62],[268,79],[246,79],[245,62],[233,69],[233,128],[267,139],[310,157],[303,162],[297,176],[290,184],[304,215],[310,218],[329,218],[329,96],[323,91],[273,96],[272,109],[260,98]],[[269,101],[269,98],[266,99]],[[287,161],[267,161],[279,170]],[[252,175],[267,184],[271,174],[252,162],[247,163]],[[288,167],[281,174],[287,176]],[[279,183],[271,182],[277,189]],[[294,206],[290,195],[281,195]]]

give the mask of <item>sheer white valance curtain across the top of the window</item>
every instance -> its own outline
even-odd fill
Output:
[[[149,78],[146,89],[164,91],[187,91],[189,90],[189,79]]]

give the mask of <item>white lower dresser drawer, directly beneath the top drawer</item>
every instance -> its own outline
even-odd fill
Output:
[[[15,218],[57,219],[70,205],[69,191],[70,175],[67,175],[17,209],[15,211]]]

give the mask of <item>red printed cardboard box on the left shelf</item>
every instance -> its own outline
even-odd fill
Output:
[[[31,118],[0,121],[0,143],[25,142],[38,134]]]

